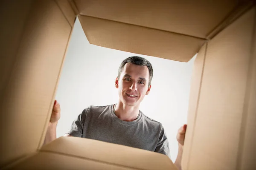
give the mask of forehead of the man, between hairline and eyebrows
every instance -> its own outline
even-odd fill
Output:
[[[130,62],[125,64],[121,76],[124,74],[129,74],[131,77],[144,77],[145,79],[149,79],[147,66],[135,65]]]

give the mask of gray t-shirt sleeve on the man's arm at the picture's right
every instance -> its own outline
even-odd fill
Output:
[[[169,142],[168,142],[166,133],[165,133],[162,125],[161,125],[160,136],[159,136],[159,139],[158,139],[158,143],[157,143],[157,147],[155,149],[155,152],[163,153],[171,159],[170,149],[169,149]]]

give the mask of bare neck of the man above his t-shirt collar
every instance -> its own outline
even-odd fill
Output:
[[[122,102],[116,104],[116,116],[126,122],[131,122],[137,119],[139,115],[139,105],[138,106],[128,106],[124,105]]]

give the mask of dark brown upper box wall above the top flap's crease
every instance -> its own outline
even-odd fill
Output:
[[[237,0],[74,0],[80,15],[206,38]]]

